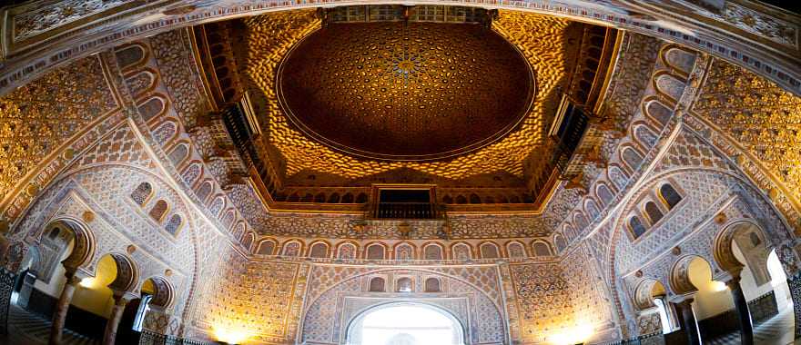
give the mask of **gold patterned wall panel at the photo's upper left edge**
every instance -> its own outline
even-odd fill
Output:
[[[37,164],[52,159],[49,154],[117,109],[102,64],[99,56],[89,56],[0,98],[0,202],[15,196],[13,188],[21,188]]]

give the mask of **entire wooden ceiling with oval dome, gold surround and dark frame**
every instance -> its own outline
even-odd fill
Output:
[[[443,203],[540,209],[563,159],[549,136],[563,96],[597,98],[616,35],[442,5],[280,12],[194,32],[249,174],[289,208],[427,183]]]

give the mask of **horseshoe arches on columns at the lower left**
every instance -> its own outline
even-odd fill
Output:
[[[102,339],[113,343],[117,333],[127,336],[130,330],[141,330],[147,312],[163,313],[173,308],[176,291],[165,278],[171,274],[169,270],[163,275],[140,277],[137,260],[132,258],[137,251],[133,245],[125,252],[96,251],[95,235],[85,222],[56,219],[46,225],[42,238],[18,263],[20,279],[10,296],[16,306],[36,308],[34,300],[43,298],[40,291],[64,286],[53,311],[51,341],[63,341],[67,318],[91,315],[86,311],[109,314]],[[109,302],[104,304],[106,299]],[[125,320],[120,330],[123,314],[131,311],[136,315]]]

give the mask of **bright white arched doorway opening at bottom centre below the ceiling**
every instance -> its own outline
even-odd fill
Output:
[[[465,345],[461,322],[428,304],[396,302],[361,312],[348,326],[348,345]]]

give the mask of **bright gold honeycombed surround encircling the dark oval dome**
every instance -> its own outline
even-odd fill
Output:
[[[582,34],[580,26],[573,27],[566,19],[502,11],[492,29],[521,51],[536,76],[537,92],[530,113],[502,140],[472,153],[440,161],[393,162],[332,150],[297,130],[282,112],[275,91],[278,66],[293,44],[321,25],[314,11],[261,15],[243,22],[249,34],[244,72],[264,94],[267,104],[259,110],[260,125],[266,132],[265,140],[286,160],[286,175],[315,171],[349,179],[400,168],[454,180],[485,173],[511,173],[519,177],[537,173],[523,172],[523,160],[533,150],[542,150],[547,145],[546,134],[561,96],[557,86],[565,84],[567,71],[571,71],[571,62],[575,60],[576,42]]]

